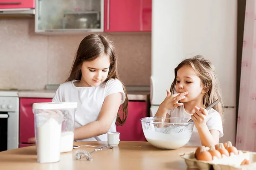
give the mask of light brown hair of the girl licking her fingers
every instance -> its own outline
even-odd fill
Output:
[[[214,102],[216,99],[220,101],[217,105],[213,106],[213,108],[218,111],[218,113],[220,113],[221,119],[223,120],[223,104],[219,91],[218,80],[215,74],[215,68],[212,63],[202,55],[197,55],[193,58],[185,59],[175,68],[175,78],[172,82],[170,90],[171,94],[176,93],[177,71],[184,65],[188,65],[193,68],[197,76],[201,79],[202,84],[204,85],[204,90],[206,91],[203,96],[204,106],[212,104],[212,102]]]

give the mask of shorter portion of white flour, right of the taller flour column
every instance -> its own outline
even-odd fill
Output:
[[[74,133],[71,131],[61,133],[61,153],[73,150]]]

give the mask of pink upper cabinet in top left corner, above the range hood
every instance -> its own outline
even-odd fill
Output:
[[[35,0],[0,0],[0,9],[35,8]]]

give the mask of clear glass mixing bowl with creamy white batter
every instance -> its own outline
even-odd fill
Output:
[[[194,122],[179,117],[144,117],[141,119],[147,141],[161,149],[177,149],[189,142]]]

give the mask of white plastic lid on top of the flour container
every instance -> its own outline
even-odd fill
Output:
[[[33,103],[33,109],[70,109],[77,108],[77,102],[43,102]]]

